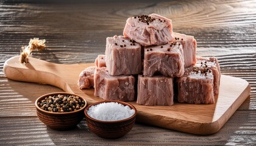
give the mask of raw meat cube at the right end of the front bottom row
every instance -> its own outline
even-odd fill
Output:
[[[177,78],[178,102],[194,104],[215,103],[213,94],[213,74],[210,69],[191,66],[185,74]]]

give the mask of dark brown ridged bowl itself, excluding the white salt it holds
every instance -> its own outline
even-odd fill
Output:
[[[90,117],[87,114],[88,109],[93,106],[93,105],[98,105],[99,103],[107,103],[107,102],[117,102],[121,103],[124,106],[128,105],[131,109],[135,110],[135,113],[123,120],[116,120],[116,121],[102,121],[102,120],[96,120]],[[126,102],[119,102],[119,101],[103,101],[103,102],[96,102],[91,105],[89,105],[85,109],[85,118],[86,118],[86,123],[90,131],[93,133],[97,134],[99,137],[103,137],[106,139],[116,139],[119,137],[123,137],[125,134],[129,133],[130,130],[132,130],[132,127],[135,123],[135,117],[137,114],[137,110],[134,106],[130,105],[129,103]]]

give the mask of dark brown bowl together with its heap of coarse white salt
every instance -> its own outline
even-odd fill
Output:
[[[137,110],[133,105],[115,100],[93,103],[85,108],[86,123],[99,137],[116,139],[132,130]]]

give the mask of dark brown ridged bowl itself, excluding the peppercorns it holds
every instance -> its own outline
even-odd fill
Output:
[[[65,113],[53,113],[50,111],[45,111],[37,105],[37,102],[40,102],[45,97],[58,96],[59,94],[78,96],[76,94],[71,94],[68,92],[54,92],[50,94],[45,94],[39,97],[37,100],[35,100],[35,107],[37,108],[37,116],[41,120],[41,122],[43,122],[46,126],[54,130],[68,130],[68,129],[74,128],[76,127],[77,123],[79,123],[84,118],[84,110],[87,106],[87,102],[82,97],[78,96],[81,100],[85,101],[85,106],[81,109],[78,109],[77,111],[70,111]]]

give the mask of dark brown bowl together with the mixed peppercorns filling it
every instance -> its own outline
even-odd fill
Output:
[[[69,130],[84,118],[87,102],[82,97],[67,92],[45,94],[35,101],[37,116],[47,127]]]

